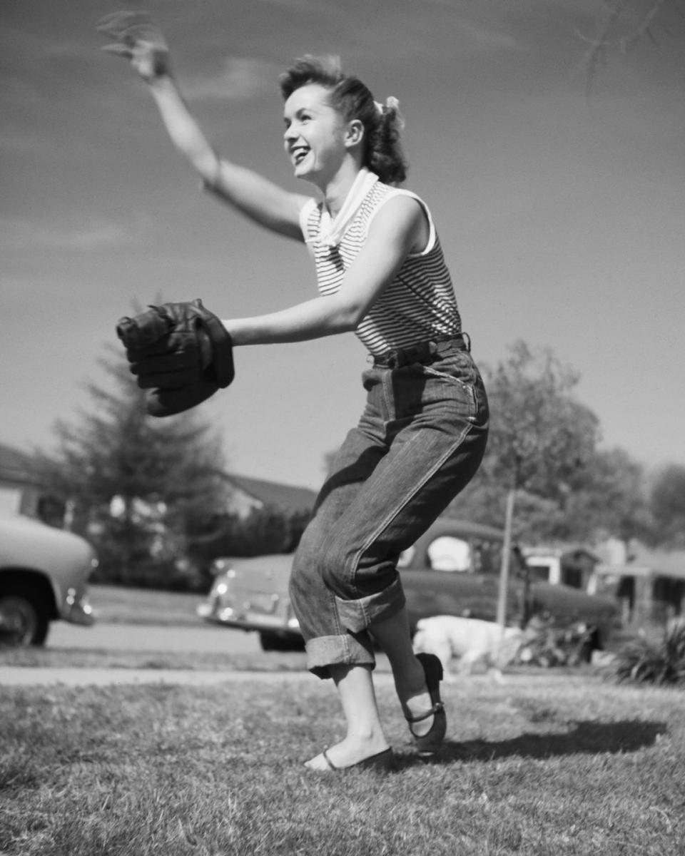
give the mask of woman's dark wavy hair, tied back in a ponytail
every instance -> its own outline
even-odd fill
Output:
[[[378,110],[372,93],[358,77],[343,74],[337,56],[302,56],[278,79],[283,99],[296,89],[317,83],[329,90],[331,105],[346,122],[358,119],[364,126],[362,164],[385,184],[401,184],[407,177],[407,162],[400,145],[402,116],[394,105]]]

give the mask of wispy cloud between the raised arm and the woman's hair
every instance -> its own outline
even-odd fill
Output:
[[[246,101],[273,92],[278,69],[272,62],[250,57],[229,56],[218,74],[190,78],[183,84],[188,98]]]

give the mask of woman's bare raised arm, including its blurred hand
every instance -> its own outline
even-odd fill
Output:
[[[145,80],[172,143],[207,189],[255,223],[302,241],[299,215],[307,197],[217,155],[188,110],[171,72],[169,48],[149,15],[117,12],[100,21],[98,30],[114,39],[103,50],[130,60]]]

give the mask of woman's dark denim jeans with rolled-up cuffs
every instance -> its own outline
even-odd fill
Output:
[[[295,554],[290,597],[307,668],[373,666],[369,627],[405,603],[396,563],[480,466],[488,406],[461,340],[424,362],[364,372],[366,407],[343,442]]]

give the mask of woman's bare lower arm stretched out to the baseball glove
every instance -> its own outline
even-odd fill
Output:
[[[336,294],[326,294],[254,318],[223,321],[235,345],[304,342],[355,330],[383,293],[408,253],[426,246],[428,223],[409,196],[389,199],[373,217],[368,239]]]

